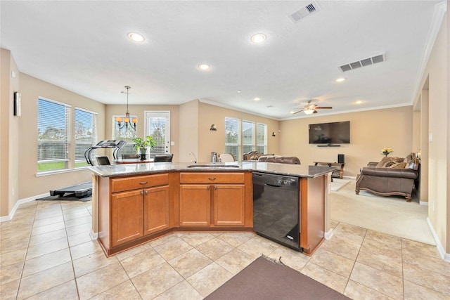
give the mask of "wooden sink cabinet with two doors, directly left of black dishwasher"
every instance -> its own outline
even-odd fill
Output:
[[[245,226],[252,209],[245,189],[244,173],[181,173],[180,226]]]

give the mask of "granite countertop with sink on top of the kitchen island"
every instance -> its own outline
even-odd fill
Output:
[[[189,167],[195,166],[195,167]],[[233,167],[230,167],[233,166]],[[168,171],[200,172],[241,172],[257,171],[269,174],[314,178],[337,170],[336,167],[308,166],[306,164],[276,164],[273,162],[155,162],[143,164],[111,164],[89,167],[94,174],[102,177],[133,176],[165,173]]]

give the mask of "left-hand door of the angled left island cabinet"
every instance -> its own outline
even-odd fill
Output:
[[[117,246],[143,236],[141,190],[115,193],[111,197],[111,245]]]

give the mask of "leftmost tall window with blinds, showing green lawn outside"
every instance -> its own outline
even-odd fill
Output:
[[[37,171],[68,169],[70,105],[37,100]]]

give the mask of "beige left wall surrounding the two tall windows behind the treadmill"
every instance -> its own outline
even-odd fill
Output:
[[[37,98],[41,96],[72,105],[72,116],[75,115],[75,107],[97,112],[99,140],[105,136],[105,105],[23,73],[20,74],[20,91],[22,92],[22,117],[18,118],[20,145],[15,148],[20,159],[18,165],[14,167],[18,168],[18,177],[20,178],[19,198],[49,193],[49,190],[90,181],[91,171],[87,169],[37,176]],[[74,122],[75,120],[72,118],[72,126],[74,126]],[[70,147],[72,148],[71,153],[73,153],[74,143],[71,143]],[[73,165],[74,162],[74,157],[70,157],[70,165]]]

